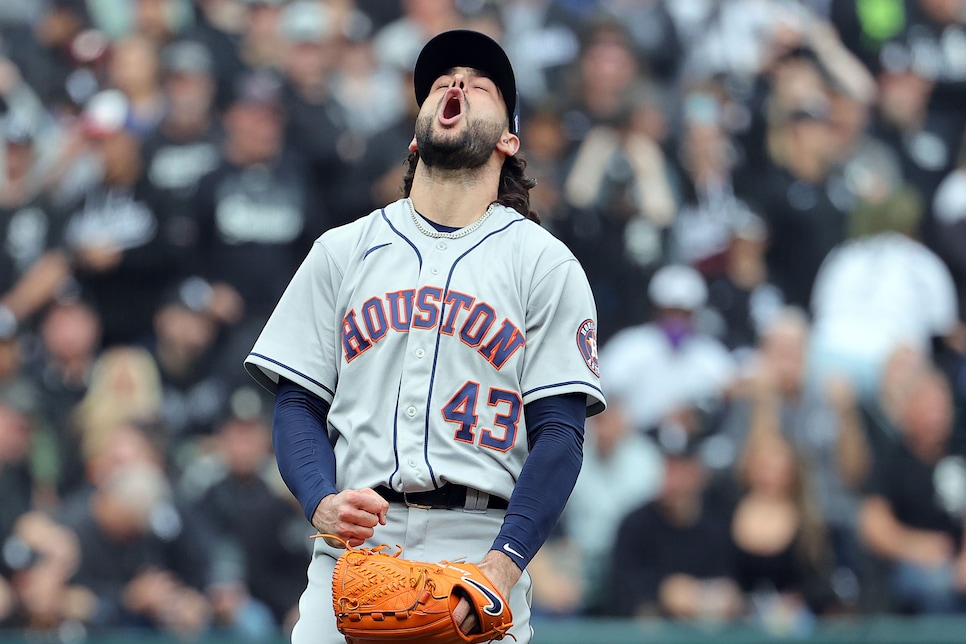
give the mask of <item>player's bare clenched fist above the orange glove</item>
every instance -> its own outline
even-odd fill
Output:
[[[386,525],[389,502],[372,488],[342,490],[330,494],[315,508],[312,525],[322,534],[334,534],[352,547],[362,545],[377,525]],[[335,539],[326,539],[334,548],[344,547]]]

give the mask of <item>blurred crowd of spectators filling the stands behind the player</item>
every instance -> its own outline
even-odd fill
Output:
[[[966,611],[966,0],[4,0],[0,627],[291,627],[242,358],[458,27],[599,309],[535,615]]]

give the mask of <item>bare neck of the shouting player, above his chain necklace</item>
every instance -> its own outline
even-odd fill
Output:
[[[462,228],[482,217],[496,201],[499,175],[489,174],[485,170],[442,173],[419,166],[409,196],[416,211],[430,221]]]

